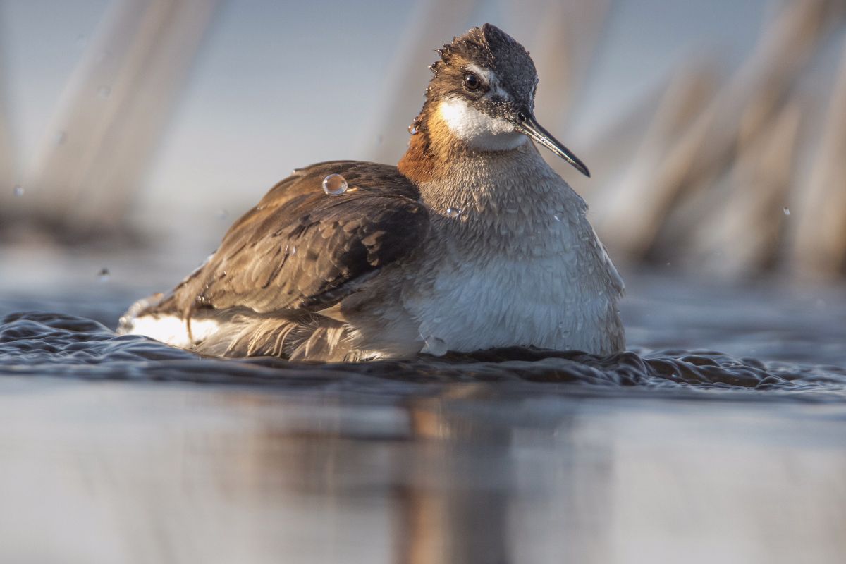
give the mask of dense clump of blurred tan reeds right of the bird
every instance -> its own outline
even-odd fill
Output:
[[[843,95],[834,93],[820,140],[803,129],[818,110],[800,86],[827,37],[843,30],[844,8],[842,0],[784,3],[749,59],[706,101],[696,83],[710,75],[680,71],[622,174],[596,194],[597,230],[613,251],[730,277],[788,265],[843,275],[846,205],[831,206],[825,225],[820,205],[801,205],[809,192],[843,202]],[[803,162],[813,163],[810,173]],[[788,214],[798,227],[783,227]],[[794,260],[785,260],[788,248]]]

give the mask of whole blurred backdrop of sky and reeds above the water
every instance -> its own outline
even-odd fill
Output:
[[[615,261],[843,276],[844,0],[0,1],[0,276],[189,268],[294,167],[397,162],[433,49],[486,21]]]

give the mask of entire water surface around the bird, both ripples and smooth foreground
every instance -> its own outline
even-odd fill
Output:
[[[115,337],[142,290],[77,290],[0,295],[2,561],[846,558],[836,288],[629,277],[627,353],[329,365]]]

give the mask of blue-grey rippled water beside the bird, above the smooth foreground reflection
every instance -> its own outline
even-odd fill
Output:
[[[496,383],[491,388],[497,394],[619,392],[721,399],[846,399],[846,299],[842,296],[832,293],[822,298],[823,294],[811,293],[788,298],[783,288],[691,288],[684,281],[655,276],[635,280],[637,289],[624,310],[629,351],[607,358],[531,348],[366,364],[201,358],[144,337],[115,336],[108,326],[114,326],[131,298],[101,291],[89,295],[91,301],[82,292],[52,299],[17,296],[0,302],[0,314],[6,310],[0,323],[0,371],[85,379],[327,387],[337,392],[400,396],[476,382]],[[41,311],[14,311],[38,306]]]

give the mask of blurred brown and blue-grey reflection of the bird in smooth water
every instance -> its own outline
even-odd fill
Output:
[[[373,413],[369,422],[346,419],[343,405],[327,400],[298,430],[262,431],[255,485],[319,498],[339,512],[355,507],[359,520],[345,526],[361,531],[369,528],[368,512],[385,507],[379,536],[398,563],[546,558],[550,534],[558,556],[596,557],[596,543],[586,545],[578,529],[606,512],[596,496],[608,457],[575,456],[574,413],[527,420],[517,405],[508,416],[489,402],[488,390],[454,386],[394,405],[390,416]],[[330,532],[326,541],[345,535]]]

